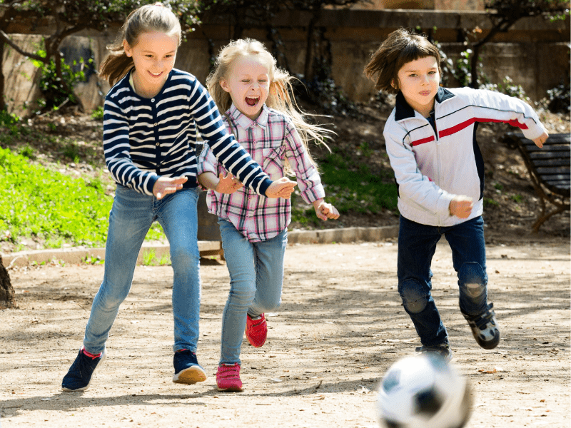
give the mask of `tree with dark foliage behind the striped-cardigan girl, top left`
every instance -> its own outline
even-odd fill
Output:
[[[19,54],[27,56],[46,66],[53,63],[56,85],[65,93],[73,88],[62,75],[63,56],[59,51],[61,41],[67,36],[85,29],[103,31],[111,24],[122,24],[126,16],[143,4],[155,3],[154,0],[0,0],[0,70],[7,44]],[[189,0],[167,0],[163,2],[178,14],[183,33],[192,31],[196,24],[198,2]],[[44,38],[44,49],[40,52],[28,52],[21,49],[7,34],[14,22],[26,24],[28,31],[34,31],[41,20],[50,22],[53,32]],[[47,94],[48,96],[50,94]],[[0,73],[0,111],[6,110],[4,100],[4,76]]]

